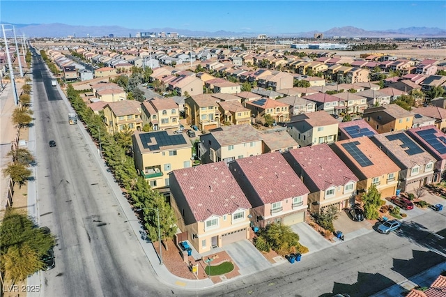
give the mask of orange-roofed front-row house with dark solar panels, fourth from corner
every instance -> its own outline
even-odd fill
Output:
[[[360,195],[371,185],[376,186],[382,198],[396,194],[400,168],[369,137],[341,140],[330,147],[359,179]]]

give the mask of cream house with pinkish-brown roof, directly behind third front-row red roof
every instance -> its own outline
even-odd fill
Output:
[[[324,111],[299,114],[286,124],[287,131],[300,146],[337,141],[339,121]]]

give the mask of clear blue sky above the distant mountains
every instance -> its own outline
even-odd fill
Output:
[[[410,26],[446,29],[446,1],[0,1],[0,20],[170,27],[193,31],[293,33],[355,26],[365,30]]]

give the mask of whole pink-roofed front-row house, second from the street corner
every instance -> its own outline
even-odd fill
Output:
[[[252,226],[297,224],[305,220],[309,190],[281,153],[266,153],[229,163],[252,208]]]

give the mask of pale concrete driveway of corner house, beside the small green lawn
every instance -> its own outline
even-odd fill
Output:
[[[239,268],[240,275],[259,273],[272,264],[247,239],[223,247]]]

